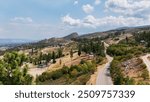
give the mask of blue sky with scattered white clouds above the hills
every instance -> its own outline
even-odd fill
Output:
[[[150,25],[150,0],[0,0],[0,38],[40,40]]]

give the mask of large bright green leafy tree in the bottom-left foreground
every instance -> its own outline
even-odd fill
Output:
[[[21,61],[22,59],[22,61]],[[28,85],[32,84],[33,77],[29,75],[28,66],[21,70],[22,55],[12,52],[6,53],[0,60],[0,82],[4,85]]]

